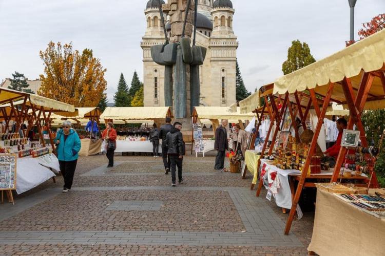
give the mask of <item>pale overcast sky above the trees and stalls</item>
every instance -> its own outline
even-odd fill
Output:
[[[282,75],[292,40],[309,44],[319,60],[349,39],[348,0],[232,0],[238,61],[246,88],[255,90]],[[107,69],[113,101],[120,73],[143,80],[141,37],[147,0],[0,0],[0,81],[14,71],[29,79],[43,73],[38,56],[50,40],[90,48]],[[384,0],[358,0],[355,31],[385,12]],[[356,34],[356,39],[357,38]]]

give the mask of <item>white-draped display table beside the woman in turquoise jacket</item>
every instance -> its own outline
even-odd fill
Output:
[[[59,160],[53,154],[37,158],[17,158],[16,193],[22,194],[54,177],[55,174],[49,168],[56,173],[60,172]]]

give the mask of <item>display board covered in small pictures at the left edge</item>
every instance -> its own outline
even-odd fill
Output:
[[[16,155],[0,155],[0,190],[16,189]]]

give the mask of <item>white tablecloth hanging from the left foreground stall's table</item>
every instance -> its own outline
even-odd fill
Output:
[[[46,180],[54,177],[55,174],[50,169],[44,167],[38,158],[25,157],[18,158],[16,165],[16,193],[22,194],[32,189]],[[59,161],[57,162],[59,165]]]

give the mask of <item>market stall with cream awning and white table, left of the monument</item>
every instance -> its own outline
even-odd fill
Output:
[[[169,107],[108,107],[100,116],[105,122],[115,123],[156,123],[158,129],[165,123],[166,117],[172,117]],[[152,126],[151,126],[152,127]],[[132,126],[124,129],[115,129],[118,132],[117,148],[115,152],[152,152],[152,143],[149,141],[150,126]],[[161,152],[161,148],[159,148]]]

